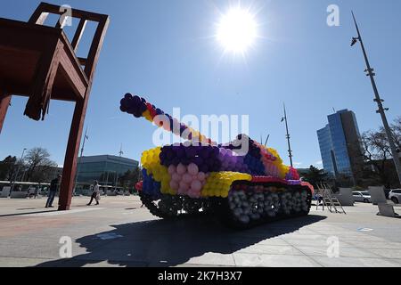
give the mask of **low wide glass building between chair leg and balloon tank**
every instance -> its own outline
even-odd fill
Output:
[[[137,167],[138,161],[113,155],[78,158],[78,183],[94,183],[97,180],[102,185],[114,185],[116,177]]]

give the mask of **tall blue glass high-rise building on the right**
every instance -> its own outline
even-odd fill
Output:
[[[356,178],[364,159],[355,113],[340,110],[327,118],[329,124],[317,131],[323,168],[336,177]]]

